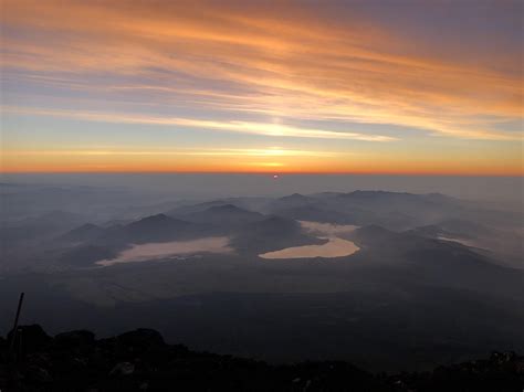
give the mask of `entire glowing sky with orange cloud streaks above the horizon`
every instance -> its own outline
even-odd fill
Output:
[[[0,169],[522,176],[523,14],[2,0]]]

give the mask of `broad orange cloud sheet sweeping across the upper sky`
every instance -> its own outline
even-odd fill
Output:
[[[522,137],[495,126],[522,118],[522,75],[495,71],[496,59],[486,63],[485,56],[478,64],[437,51],[421,56],[411,50],[417,38],[406,41],[371,20],[348,18],[334,23],[292,2],[270,9],[227,2],[6,1],[3,22],[42,39],[6,39],[2,62],[8,71],[60,73],[64,81],[96,73],[155,74],[160,80],[148,85],[73,88],[157,89],[163,92],[158,104],[188,98],[231,117],[258,113],[394,124],[448,137]],[[212,81],[221,86],[212,87]],[[200,93],[190,94],[195,85]]]

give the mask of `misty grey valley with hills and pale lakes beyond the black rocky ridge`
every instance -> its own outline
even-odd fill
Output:
[[[512,203],[21,183],[2,194],[7,211],[38,211],[3,216],[3,331],[23,289],[24,317],[51,331],[146,325],[198,350],[276,362],[423,369],[524,348],[523,213]]]

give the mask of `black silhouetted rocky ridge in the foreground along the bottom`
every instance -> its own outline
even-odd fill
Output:
[[[77,330],[54,338],[38,325],[0,338],[0,391],[515,391],[524,389],[524,357],[440,367],[432,372],[371,374],[348,362],[271,365],[190,351],[137,329],[107,339]],[[11,358],[9,360],[9,357]]]

